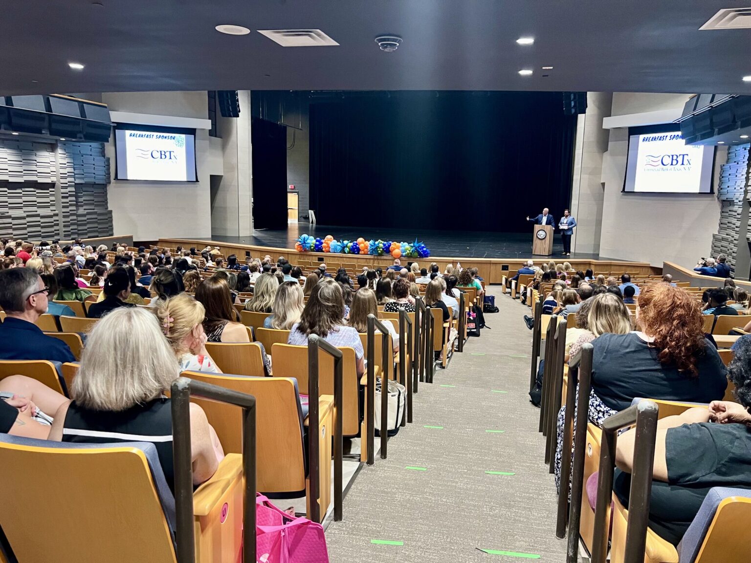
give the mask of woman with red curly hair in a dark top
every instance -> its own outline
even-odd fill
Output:
[[[704,338],[701,312],[669,284],[647,285],[636,309],[638,331],[593,341],[592,390],[622,411],[635,397],[708,403],[721,400],[727,370]]]

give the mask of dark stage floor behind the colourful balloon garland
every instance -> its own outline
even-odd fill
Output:
[[[529,233],[493,233],[487,231],[449,231],[449,230],[415,230],[415,229],[361,229],[359,227],[327,227],[320,224],[290,224],[286,230],[255,230],[254,236],[212,236],[213,240],[233,244],[276,246],[294,248],[294,242],[301,234],[324,238],[331,235],[337,240],[357,239],[391,239],[398,242],[424,242],[433,256],[462,256],[469,258],[537,258],[531,256],[532,227]],[[560,261],[563,245],[556,233],[553,244],[553,256]],[[572,252],[570,259],[600,260],[599,254]],[[610,258],[602,258],[610,260]]]

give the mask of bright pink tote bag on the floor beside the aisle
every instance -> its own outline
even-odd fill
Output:
[[[329,563],[324,528],[307,518],[291,518],[255,497],[255,549],[258,563]]]

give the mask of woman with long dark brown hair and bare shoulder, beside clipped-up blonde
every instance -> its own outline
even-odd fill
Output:
[[[240,313],[232,306],[227,282],[210,277],[195,290],[195,300],[204,306],[204,332],[208,342],[250,342],[248,330],[240,322]]]

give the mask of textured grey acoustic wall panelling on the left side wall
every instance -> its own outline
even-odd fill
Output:
[[[0,141],[0,236],[112,236],[109,182],[102,143]]]

